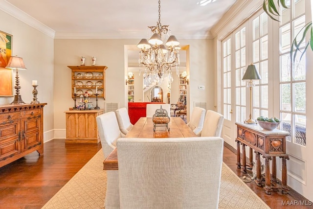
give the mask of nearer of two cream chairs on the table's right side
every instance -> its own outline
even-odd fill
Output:
[[[221,137],[224,116],[212,110],[206,111],[201,137]]]

